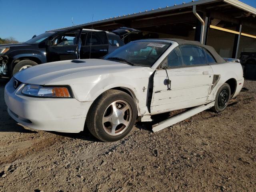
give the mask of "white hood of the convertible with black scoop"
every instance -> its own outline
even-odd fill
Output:
[[[18,72],[14,78],[26,84],[54,84],[58,80],[74,79],[77,76],[111,74],[133,68],[128,64],[101,59],[66,60],[33,66]],[[81,74],[82,73],[82,74]]]

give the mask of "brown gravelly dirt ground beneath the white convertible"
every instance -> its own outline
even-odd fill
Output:
[[[6,82],[0,192],[256,191],[256,81],[246,80],[220,114],[204,111],[157,133],[138,123],[114,143],[17,124],[4,103]]]

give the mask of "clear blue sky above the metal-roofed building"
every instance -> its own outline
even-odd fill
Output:
[[[120,2],[120,3],[117,3]],[[0,0],[0,37],[24,42],[46,30],[82,24],[123,14],[173,6],[188,0]],[[242,0],[256,7],[256,0]]]

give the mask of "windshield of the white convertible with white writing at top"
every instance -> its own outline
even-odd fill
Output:
[[[130,42],[106,55],[104,59],[151,67],[170,45],[154,41]]]

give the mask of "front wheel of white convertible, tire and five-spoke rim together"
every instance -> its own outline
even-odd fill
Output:
[[[90,107],[86,125],[99,140],[114,142],[124,138],[132,130],[136,116],[136,104],[130,95],[119,90],[108,90]]]

